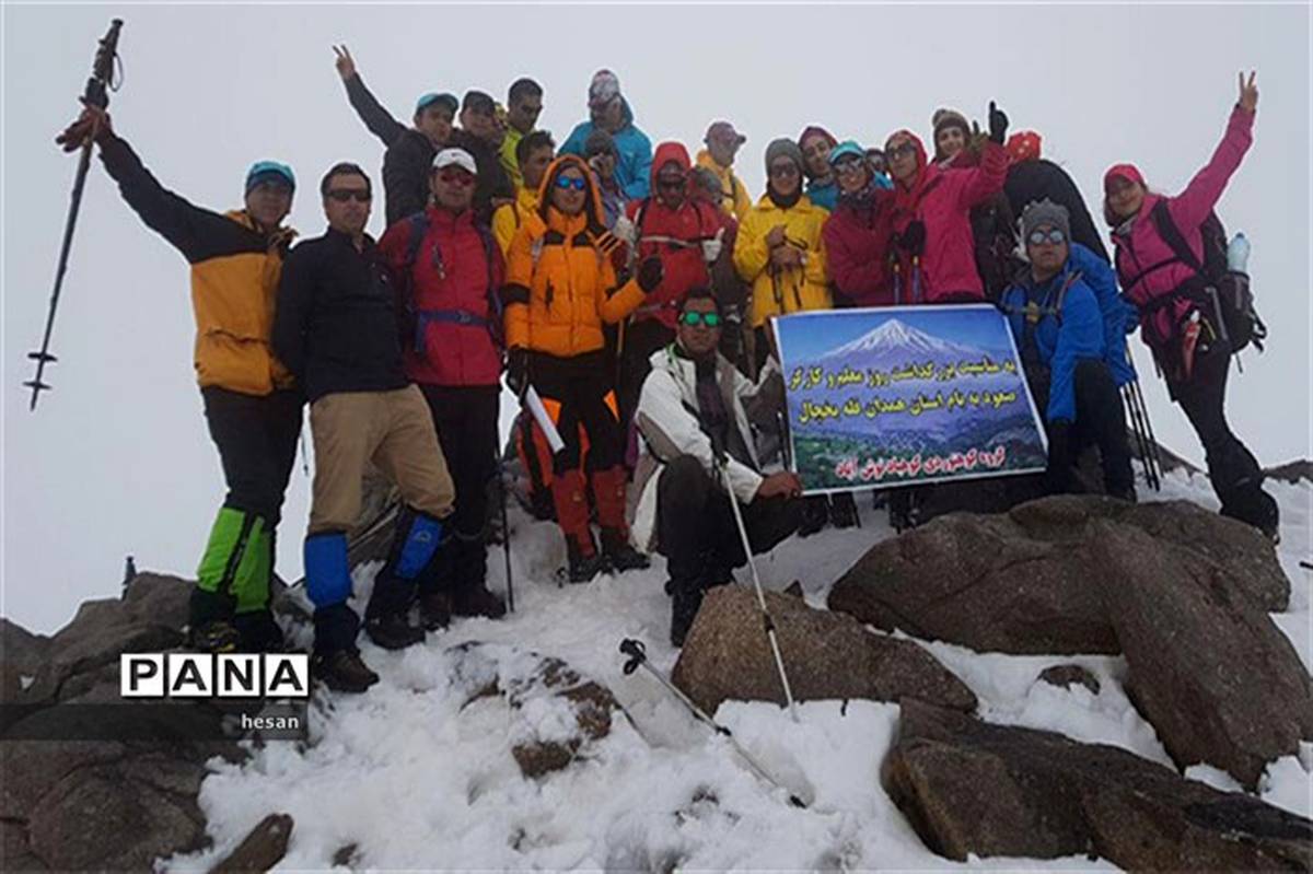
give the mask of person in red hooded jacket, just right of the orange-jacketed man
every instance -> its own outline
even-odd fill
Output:
[[[679,143],[662,143],[653,157],[653,196],[632,201],[626,220],[616,223],[616,236],[634,252],[634,264],[656,256],[660,285],[634,310],[620,353],[620,415],[629,427],[638,392],[651,369],[654,352],[675,341],[675,322],[692,289],[712,287],[709,268],[731,249],[725,243],[725,217],[713,205],[691,194],[693,163]]]

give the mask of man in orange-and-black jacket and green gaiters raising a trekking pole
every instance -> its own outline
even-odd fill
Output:
[[[197,570],[190,643],[207,652],[281,650],[269,581],[303,396],[274,357],[270,331],[295,236],[282,226],[295,189],[291,168],[259,161],[246,177],[244,209],[219,214],[160,185],[104,110],[85,110],[60,142],[80,146],[87,135],[127,205],[192,266],[196,374],[228,491]]]

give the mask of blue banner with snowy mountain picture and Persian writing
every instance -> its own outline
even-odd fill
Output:
[[[807,492],[1044,468],[1044,429],[994,307],[805,312],[775,325]]]

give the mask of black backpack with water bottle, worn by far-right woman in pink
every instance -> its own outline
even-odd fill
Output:
[[[1263,340],[1267,339],[1267,325],[1254,310],[1254,291],[1250,287],[1249,274],[1232,270],[1226,264],[1226,230],[1217,213],[1209,211],[1208,218],[1199,226],[1204,244],[1203,264],[1195,257],[1180,228],[1173,220],[1166,199],[1154,203],[1149,217],[1176,260],[1194,270],[1199,278],[1199,282],[1183,285],[1178,294],[1191,298],[1199,306],[1201,315],[1212,315],[1209,322],[1217,323],[1217,331],[1230,345],[1233,354],[1250,343],[1262,352]],[[1176,294],[1165,295],[1163,301],[1175,297]]]

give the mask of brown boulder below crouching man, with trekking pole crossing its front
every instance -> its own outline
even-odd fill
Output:
[[[970,689],[915,643],[872,634],[851,617],[814,610],[801,598],[768,592],[765,600],[796,699],[911,696],[976,709]],[[727,698],[785,702],[751,589],[722,585],[706,593],[671,680],[708,713]]]

